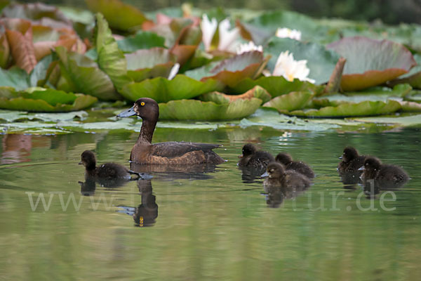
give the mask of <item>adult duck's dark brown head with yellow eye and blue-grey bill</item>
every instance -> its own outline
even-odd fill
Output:
[[[152,98],[139,98],[133,107],[121,112],[117,117],[138,115],[142,120],[156,121],[159,117],[159,106]]]

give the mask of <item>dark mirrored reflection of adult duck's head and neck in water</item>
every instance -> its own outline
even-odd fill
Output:
[[[158,217],[158,204],[155,195],[152,194],[151,179],[139,180],[138,188],[142,204],[138,207],[119,206],[122,208],[119,212],[133,216],[135,226],[153,226]]]

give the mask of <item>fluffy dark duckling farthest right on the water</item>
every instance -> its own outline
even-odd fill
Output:
[[[374,184],[380,188],[398,188],[410,179],[401,167],[382,164],[380,159],[373,156],[366,157],[359,170],[363,171],[361,178],[365,185],[373,180]]]

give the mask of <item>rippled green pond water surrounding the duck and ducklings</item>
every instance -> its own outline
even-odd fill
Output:
[[[154,142],[219,143],[228,162],[93,188],[79,183],[81,152],[128,166],[137,133],[1,135],[0,279],[420,280],[420,136],[158,128]],[[260,178],[243,183],[246,142],[309,163],[314,185],[282,200]],[[374,199],[344,188],[336,166],[346,145],[403,166],[411,180]]]

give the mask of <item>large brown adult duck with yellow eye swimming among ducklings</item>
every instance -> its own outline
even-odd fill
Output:
[[[212,151],[220,145],[175,141],[152,144],[152,136],[159,118],[159,105],[152,98],[139,98],[133,107],[121,112],[117,117],[133,115],[142,118],[142,127],[138,141],[131,150],[131,162],[164,165],[221,164],[225,162]]]

